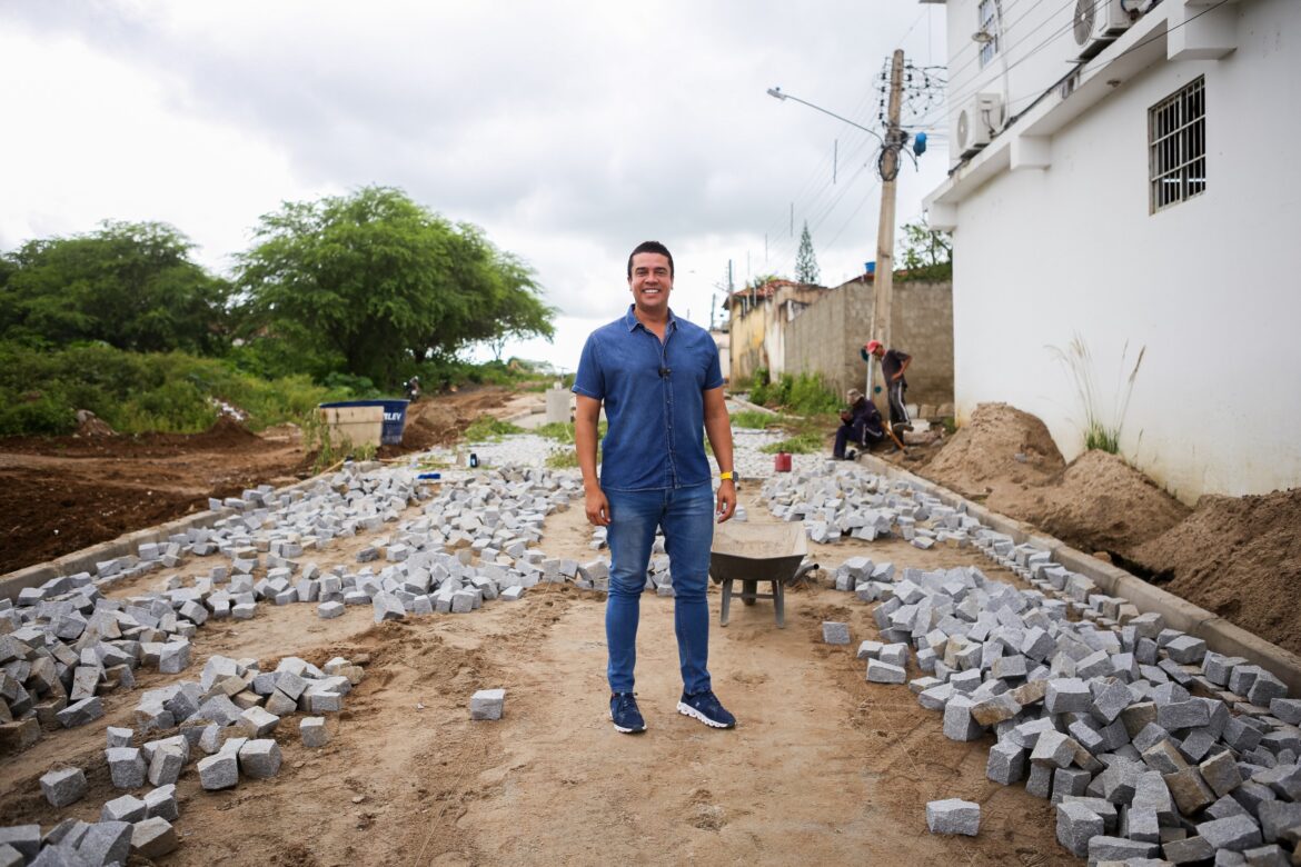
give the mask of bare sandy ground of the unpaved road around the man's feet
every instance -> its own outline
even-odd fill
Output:
[[[770,520],[751,499],[757,487],[742,497],[753,520]],[[575,507],[548,519],[543,549],[587,560],[588,539]],[[329,558],[363,543],[349,539]],[[825,568],[866,554],[900,568],[977,563],[1012,580],[971,550],[812,547]],[[144,675],[135,693],[105,697],[105,720],[49,733],[8,759],[0,812],[7,823],[94,819],[118,794],[103,763],[104,727],[130,725],[139,689],[196,679],[211,654],[264,667],[289,654],[315,663],[364,654],[367,677],[329,718],[328,746],[303,747],[288,718],[276,733],[278,777],[204,793],[193,764],[185,771],[183,842],[164,863],[1075,863],[1054,841],[1047,802],[985,779],[989,744],[948,741],[941,715],[907,688],[865,682],[853,649],[876,637],[869,606],[822,582],[787,595],[786,629],[766,602],[732,606],[721,628],[718,602],[712,588],[710,668],[740,720],[734,731],[675,711],[671,599],[643,598],[637,694],[649,731],[640,736],[618,734],[608,720],[597,594],[539,588],[472,615],[382,625],[368,607],[321,621],[315,606],[263,604],[251,621],[200,629],[183,676]],[[822,643],[821,623],[831,619],[851,624],[853,646]],[[496,686],[506,689],[505,718],[471,721],[470,695]],[[87,768],[91,792],[60,811],[36,779],[64,762]],[[982,805],[978,837],[926,832],[926,802],[950,797]]]

